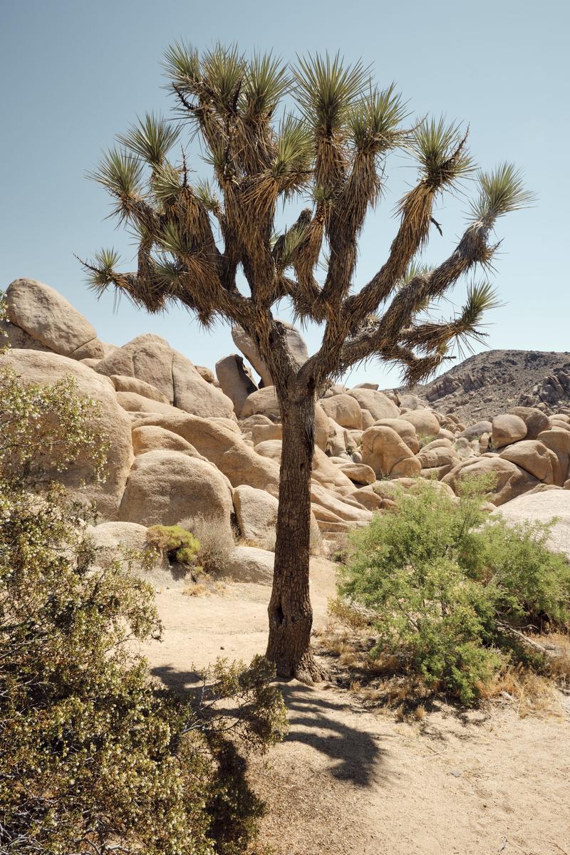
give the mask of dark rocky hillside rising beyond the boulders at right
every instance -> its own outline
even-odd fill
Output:
[[[514,406],[570,408],[570,353],[485,351],[413,390],[429,406],[467,422]]]

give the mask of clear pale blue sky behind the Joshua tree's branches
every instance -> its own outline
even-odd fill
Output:
[[[171,109],[160,62],[183,38],[198,47],[237,41],[284,58],[330,50],[373,63],[381,85],[397,81],[414,115],[469,122],[473,154],[484,168],[505,159],[525,171],[538,194],[532,209],[500,221],[504,239],[494,277],[505,306],[492,313],[491,347],[570,350],[567,200],[570,75],[569,4],[545,0],[479,3],[267,0],[3,0],[0,108],[3,192],[0,288],[17,276],[62,292],[97,327],[124,344],[154,332],[199,364],[235,350],[227,327],[204,333],[183,310],[152,316],[126,300],[97,301],[79,263],[102,245],[132,258],[131,239],[115,231],[108,198],[85,179],[101,151],[137,114]],[[197,168],[203,167],[197,162]],[[394,204],[414,169],[387,163],[387,192],[361,243],[357,282],[385,257],[396,227]],[[428,261],[443,260],[462,229],[465,201],[444,199]],[[465,285],[456,289],[461,303]],[[309,350],[318,331],[309,330]],[[396,385],[385,366],[355,369],[350,382]]]

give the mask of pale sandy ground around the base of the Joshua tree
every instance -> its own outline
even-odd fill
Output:
[[[332,564],[312,569],[315,623],[334,592]],[[269,589],[232,584],[189,597],[156,577],[161,643],[150,670],[173,687],[216,657],[263,652]],[[281,685],[291,731],[252,761],[275,855],[570,855],[570,709],[520,718],[511,705],[397,723],[329,685]]]

